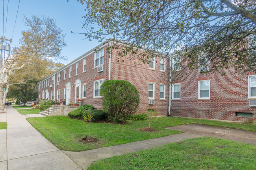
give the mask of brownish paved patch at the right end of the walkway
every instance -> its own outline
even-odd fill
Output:
[[[184,126],[174,126],[166,129],[179,130],[195,135],[217,137],[221,139],[256,145],[256,132],[249,132],[245,130],[221,128],[202,124],[187,124]]]

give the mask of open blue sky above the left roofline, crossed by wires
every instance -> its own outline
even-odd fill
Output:
[[[4,25],[6,25],[6,38],[9,39],[13,33],[19,0],[9,0],[6,24],[7,2],[8,0],[4,0]],[[0,4],[1,36],[3,35],[3,5],[2,2]],[[70,31],[80,33],[85,32],[85,30],[82,29],[81,23],[83,21],[82,16],[85,15],[84,9],[85,5],[77,2],[77,0],[69,0],[69,2],[67,2],[67,0],[20,0],[12,46],[19,46],[21,31],[27,29],[23,22],[24,16],[28,18],[30,18],[32,15],[49,16],[50,18],[54,18],[56,20],[57,26],[63,30],[63,34],[66,34],[65,41],[67,42],[67,47],[63,48],[62,55],[67,56],[67,60],[56,61],[67,64],[68,62],[78,58],[80,55],[100,44],[98,40],[93,40],[90,42],[88,39],[84,39],[84,35],[70,33]]]

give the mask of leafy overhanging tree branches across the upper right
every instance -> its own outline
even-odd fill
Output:
[[[135,46],[146,47],[148,54],[176,54],[182,56],[180,64],[186,62],[188,69],[199,67],[200,54],[202,63],[210,62],[209,71],[221,71],[230,65],[255,70],[255,0],[80,2],[86,5],[83,34],[88,38],[102,41],[113,36],[132,43],[130,49],[126,48],[129,51],[135,51]],[[120,53],[125,55],[124,51]]]

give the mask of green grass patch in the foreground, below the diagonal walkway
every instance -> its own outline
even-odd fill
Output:
[[[255,157],[255,145],[199,137],[102,159],[89,170],[255,170]]]

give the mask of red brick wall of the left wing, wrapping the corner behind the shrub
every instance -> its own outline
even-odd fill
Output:
[[[78,64],[78,75],[76,75],[76,64],[72,64],[72,77],[69,78],[69,66],[66,68],[67,79],[64,79],[64,71],[61,70],[61,81],[59,86],[56,86],[58,75],[55,75],[55,99],[57,100],[57,90],[61,90],[61,98],[64,97],[64,88],[67,82],[71,83],[71,99],[75,99],[75,81],[81,80],[81,98],[82,98],[82,85],[86,82],[86,99],[83,99],[83,103],[92,104],[95,108],[102,108],[102,99],[93,98],[93,81],[96,79],[109,80],[109,54],[107,53],[108,45],[104,47],[104,71],[101,73],[97,72],[97,68],[94,68],[94,53],[87,56],[86,72],[83,72],[83,58],[79,60]],[[139,91],[140,104],[138,113],[147,112],[147,108],[155,109],[158,111],[158,115],[167,115],[168,112],[168,101],[169,101],[169,88],[165,86],[165,100],[160,100],[160,83],[166,84],[168,82],[168,74],[160,71],[160,58],[155,58],[155,69],[150,70],[148,64],[143,64],[140,60],[129,60],[129,55],[121,59],[118,62],[118,52],[113,50],[111,53],[111,79],[127,80],[134,84]],[[124,62],[122,62],[124,60]],[[134,62],[140,63],[141,65],[136,66]],[[167,60],[166,60],[167,62]],[[63,69],[64,70],[64,69]],[[148,104],[148,82],[155,82],[155,105]],[[51,84],[51,78],[50,78]],[[74,86],[74,87],[72,87]],[[48,89],[48,91],[54,90],[50,88],[47,83],[47,87],[42,88],[41,91]],[[41,93],[39,91],[39,94]],[[49,97],[51,94],[49,95]]]

